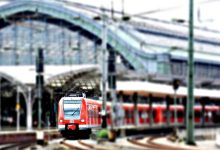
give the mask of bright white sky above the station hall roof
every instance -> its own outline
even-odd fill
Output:
[[[144,16],[171,21],[188,20],[189,0],[70,0],[98,7],[124,11],[136,15],[148,12]],[[124,4],[124,5],[122,5]],[[123,7],[122,7],[123,6]],[[152,12],[153,11],[153,12]],[[151,12],[151,13],[150,13]],[[220,30],[220,0],[194,0],[194,22],[197,26]]]

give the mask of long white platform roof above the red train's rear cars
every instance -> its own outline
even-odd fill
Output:
[[[130,86],[132,85],[132,86]],[[178,97],[187,97],[187,87],[180,86],[176,91]],[[117,82],[117,91],[123,91],[123,93],[133,94],[137,92],[139,95],[148,96],[173,96],[173,86],[167,84],[158,84],[152,82],[143,81],[119,81]],[[212,99],[220,98],[220,90],[216,89],[204,89],[195,88],[194,96],[197,98],[209,97]]]

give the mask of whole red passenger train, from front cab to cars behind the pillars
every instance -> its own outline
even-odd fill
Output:
[[[153,104],[152,105],[152,120],[150,121],[150,106],[148,104],[137,104],[138,119],[134,120],[134,104],[122,103],[119,105],[122,117],[121,125],[134,125],[135,121],[138,125],[149,125],[150,122],[154,125],[164,125],[167,123],[167,108],[165,104]],[[92,128],[101,127],[101,107],[102,102],[100,100],[92,100],[85,98],[84,96],[67,96],[62,97],[59,101],[58,107],[58,128],[63,136],[69,134],[78,134],[84,132],[89,134]],[[120,109],[117,109],[120,110]],[[202,106],[198,105],[194,107],[195,111],[195,123],[202,123]],[[204,122],[215,123],[215,116],[220,112],[218,106],[205,106],[204,108]],[[184,123],[185,110],[182,105],[170,105],[169,118],[170,124],[174,123],[174,114],[177,113],[177,122]],[[111,124],[111,103],[107,103],[107,124]],[[71,132],[72,131],[72,132]]]

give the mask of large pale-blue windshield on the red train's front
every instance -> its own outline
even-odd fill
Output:
[[[64,118],[79,119],[81,103],[82,103],[81,100],[64,100],[63,101]]]

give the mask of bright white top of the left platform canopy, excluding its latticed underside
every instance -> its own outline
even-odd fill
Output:
[[[46,65],[44,67],[44,81],[50,84],[50,81],[61,79],[66,75],[74,75],[81,72],[90,72],[98,69],[97,65]],[[4,73],[14,80],[26,84],[35,85],[36,68],[35,66],[0,66],[0,73]]]

